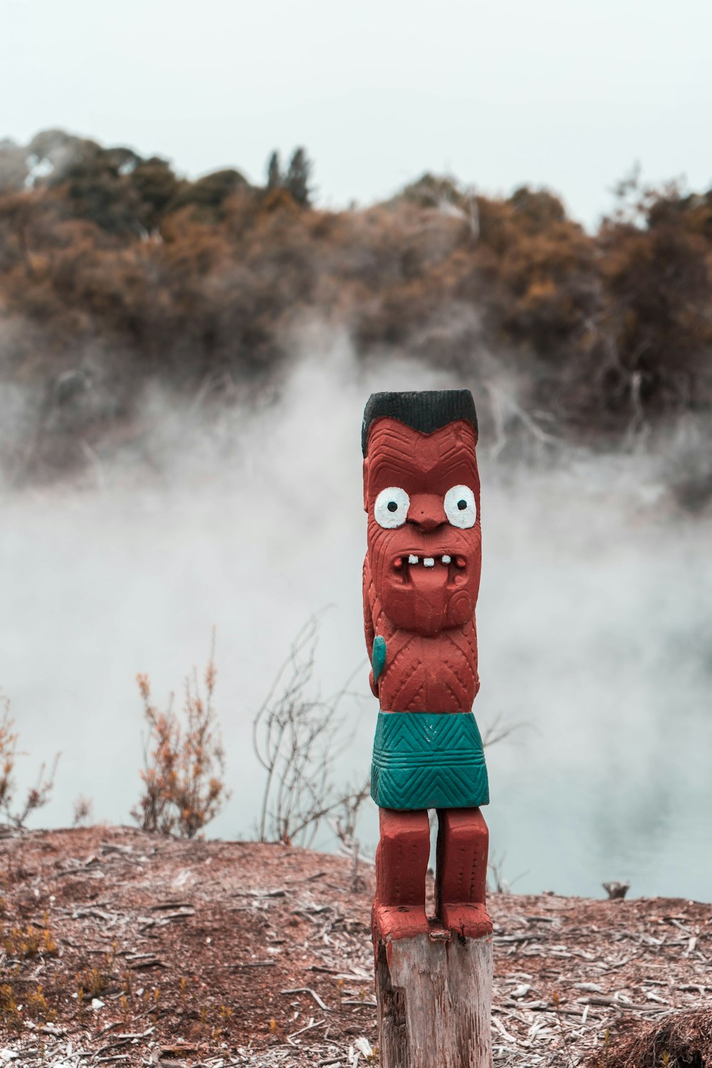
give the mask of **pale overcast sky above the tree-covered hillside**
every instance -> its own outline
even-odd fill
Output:
[[[432,171],[547,186],[592,226],[636,162],[712,183],[710,40],[709,0],[0,0],[0,138],[254,182],[304,145],[323,206]]]

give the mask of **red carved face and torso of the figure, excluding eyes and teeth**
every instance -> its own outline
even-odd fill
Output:
[[[479,476],[473,427],[458,421],[424,436],[389,419],[370,427],[364,460],[368,548],[363,570],[364,631],[385,640],[386,658],[371,688],[386,711],[470,711],[479,689],[475,604],[481,565]],[[471,487],[473,525],[452,523],[443,501]],[[383,527],[375,502],[386,486],[410,494],[408,521]],[[416,562],[410,570],[410,560]],[[422,563],[437,563],[427,571]],[[420,562],[420,563],[418,563]]]

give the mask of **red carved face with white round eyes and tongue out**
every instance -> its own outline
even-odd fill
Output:
[[[431,635],[472,618],[481,567],[477,438],[466,420],[421,434],[370,426],[364,460],[368,561],[396,627]]]

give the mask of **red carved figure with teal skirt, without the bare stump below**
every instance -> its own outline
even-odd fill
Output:
[[[364,412],[364,627],[380,712],[371,795],[380,806],[374,932],[442,925],[491,931],[489,800],[471,709],[479,689],[481,565],[477,421],[466,390],[374,394]],[[438,916],[425,912],[428,808],[437,808]]]

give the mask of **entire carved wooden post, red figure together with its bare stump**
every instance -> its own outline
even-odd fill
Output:
[[[489,801],[479,688],[477,418],[466,390],[376,393],[364,412],[364,628],[380,703],[373,939],[381,1068],[491,1068]],[[426,915],[428,810],[438,812]]]

